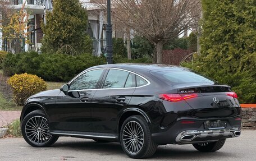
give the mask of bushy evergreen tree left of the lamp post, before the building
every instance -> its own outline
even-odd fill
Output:
[[[85,52],[88,15],[79,0],[54,0],[53,11],[47,12],[46,22],[46,25],[42,22],[42,52],[55,53],[62,47],[73,48],[76,53]]]

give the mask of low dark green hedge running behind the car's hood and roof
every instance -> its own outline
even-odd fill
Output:
[[[122,56],[114,56],[114,63],[147,63],[149,58],[128,60]],[[106,58],[92,54],[68,56],[67,54],[38,54],[27,52],[8,53],[3,59],[3,73],[12,76],[15,73],[30,73],[42,77],[45,81],[70,81],[86,68],[106,64]]]

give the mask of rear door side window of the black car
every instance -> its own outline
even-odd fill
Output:
[[[129,72],[109,70],[103,88],[124,88]]]

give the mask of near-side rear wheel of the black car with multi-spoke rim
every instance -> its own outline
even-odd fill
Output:
[[[133,131],[136,132],[132,133],[132,128],[129,129],[132,125],[134,125],[135,129]],[[122,149],[130,158],[149,158],[152,157],[157,150],[157,144],[152,140],[147,121],[145,121],[143,117],[137,115],[127,118],[122,124],[120,142]],[[132,146],[134,151],[133,148],[131,148]]]

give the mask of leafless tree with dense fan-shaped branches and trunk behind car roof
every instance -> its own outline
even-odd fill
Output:
[[[191,26],[191,11],[199,1],[112,0],[112,13],[117,21],[152,42],[156,51],[153,57],[157,63],[162,63],[163,45]]]

